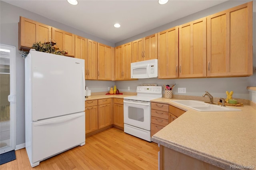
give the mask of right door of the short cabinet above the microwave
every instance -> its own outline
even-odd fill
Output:
[[[157,34],[144,38],[144,60],[157,59]]]

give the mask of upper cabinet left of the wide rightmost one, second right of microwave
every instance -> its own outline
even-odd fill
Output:
[[[206,17],[179,26],[179,77],[206,77]]]

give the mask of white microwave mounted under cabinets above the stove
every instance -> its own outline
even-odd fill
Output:
[[[158,60],[151,59],[131,63],[132,79],[147,79],[158,77]]]

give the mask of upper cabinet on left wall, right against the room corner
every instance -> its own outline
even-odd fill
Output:
[[[98,80],[114,80],[114,47],[98,43]]]

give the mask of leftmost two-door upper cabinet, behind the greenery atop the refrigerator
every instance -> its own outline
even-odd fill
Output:
[[[35,42],[50,42],[52,27],[20,16],[19,50],[29,50]]]

